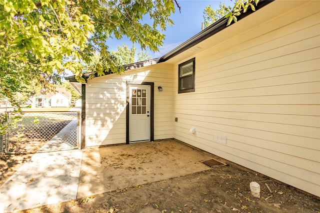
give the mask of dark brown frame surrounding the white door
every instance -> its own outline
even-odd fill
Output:
[[[130,107],[129,107],[129,85],[149,85],[150,86],[150,141],[154,140],[154,82],[137,82],[137,81],[126,81],[126,107],[125,107],[125,143],[129,144],[129,119],[130,119]]]

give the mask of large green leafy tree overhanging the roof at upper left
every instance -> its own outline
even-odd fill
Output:
[[[142,49],[158,50],[163,30],[172,24],[174,2],[0,0],[0,93],[18,105],[14,94],[24,89],[20,82],[28,84],[29,71],[45,87],[65,70],[83,81],[82,62],[88,63],[96,52],[101,56],[97,75],[104,74],[104,67],[120,73],[123,68],[108,50],[108,38],[127,36]],[[151,23],[143,23],[143,18]]]

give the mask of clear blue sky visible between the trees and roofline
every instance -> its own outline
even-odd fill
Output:
[[[232,6],[234,4],[234,0],[177,0],[181,7],[181,12],[175,7],[175,13],[171,15],[174,24],[167,26],[166,31],[163,32],[166,38],[163,46],[159,47],[159,52],[153,53],[147,49],[151,58],[163,56],[165,53],[200,32],[204,8],[208,5],[211,5],[212,8],[217,8],[220,1],[225,3],[225,5]],[[129,48],[132,46],[131,41],[127,38],[108,40],[107,45],[110,50],[116,50],[116,47],[122,46],[123,43]],[[135,47],[137,51],[140,51],[138,44],[135,44]]]

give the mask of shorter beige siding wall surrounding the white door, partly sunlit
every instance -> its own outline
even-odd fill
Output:
[[[86,84],[86,146],[125,143],[126,82],[154,82],[154,138],[173,138],[172,69],[157,64],[121,75],[110,74]],[[162,92],[157,91],[161,85]]]

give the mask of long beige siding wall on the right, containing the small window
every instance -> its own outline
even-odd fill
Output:
[[[177,94],[175,70],[174,138],[320,196],[320,2],[268,8],[266,22],[190,56],[195,92]]]

